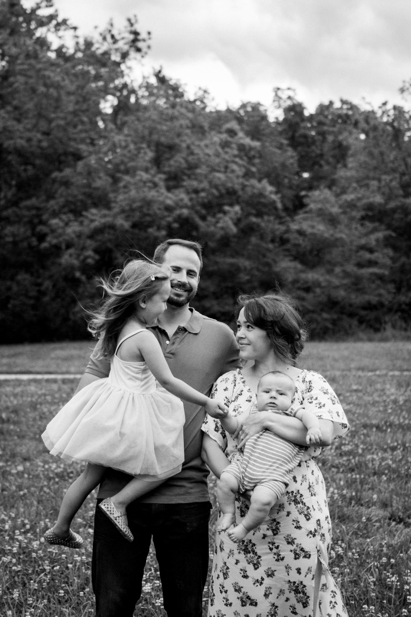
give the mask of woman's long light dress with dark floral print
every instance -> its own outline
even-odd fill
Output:
[[[334,439],[349,425],[335,392],[318,373],[303,370],[295,379],[294,402],[318,418],[332,420]],[[224,400],[233,416],[244,416],[256,405],[240,370],[222,375],[211,397]],[[229,460],[241,456],[236,442],[210,416],[203,431],[216,441]],[[322,565],[316,617],[347,615],[340,591],[328,569],[331,522],[322,474],[315,463],[320,447],[307,448],[291,473],[285,494],[264,524],[235,544],[217,532],[211,579],[209,617],[313,617],[314,574]],[[236,497],[237,522],[248,503]]]

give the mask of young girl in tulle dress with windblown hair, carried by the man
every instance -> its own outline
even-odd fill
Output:
[[[71,548],[83,545],[71,521],[105,467],[137,476],[99,504],[132,542],[128,504],[181,470],[185,416],[177,397],[202,405],[214,418],[226,413],[224,405],[172,375],[160,344],[147,330],[167,308],[171,287],[165,269],[133,260],[120,275],[102,281],[102,287],[108,297],[89,330],[100,337],[101,354],[110,358],[110,376],[75,394],[42,435],[51,454],[87,463],[65,494],[57,523],[44,534],[49,544]]]

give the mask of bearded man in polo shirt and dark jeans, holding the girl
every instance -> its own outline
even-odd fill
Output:
[[[238,346],[230,328],[190,309],[202,267],[197,242],[170,239],[157,247],[154,260],[171,268],[168,310],[151,328],[160,342],[174,376],[203,394],[214,381],[238,366]],[[94,350],[78,389],[106,377],[110,365]],[[210,500],[201,460],[201,424],[198,405],[184,402],[184,464],[180,473],[131,503],[128,524],[131,544],[107,516],[96,508],[92,583],[97,617],[132,617],[141,595],[145,561],[153,537],[160,566],[164,607],[168,617],[200,617],[208,571]],[[98,499],[112,497],[130,476],[107,470]]]

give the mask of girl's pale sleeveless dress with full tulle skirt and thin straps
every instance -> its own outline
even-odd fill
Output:
[[[184,460],[180,399],[155,381],[145,362],[111,360],[110,375],[79,391],[47,424],[44,443],[55,456],[124,471],[145,480],[169,478]]]

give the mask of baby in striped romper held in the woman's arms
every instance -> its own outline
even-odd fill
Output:
[[[285,373],[272,371],[263,375],[258,382],[257,407],[259,412],[272,411],[294,416],[307,428],[307,445],[319,444],[322,439],[318,418],[300,405],[291,402],[295,394],[295,383]],[[228,414],[221,424],[227,433],[237,430],[238,420]],[[217,497],[223,513],[218,531],[227,530],[233,542],[243,540],[251,529],[259,526],[269,511],[287,489],[290,473],[298,465],[304,448],[291,444],[271,433],[262,431],[251,437],[245,444],[243,457],[238,457],[221,474]],[[253,491],[250,510],[245,518],[235,524],[235,493]]]

